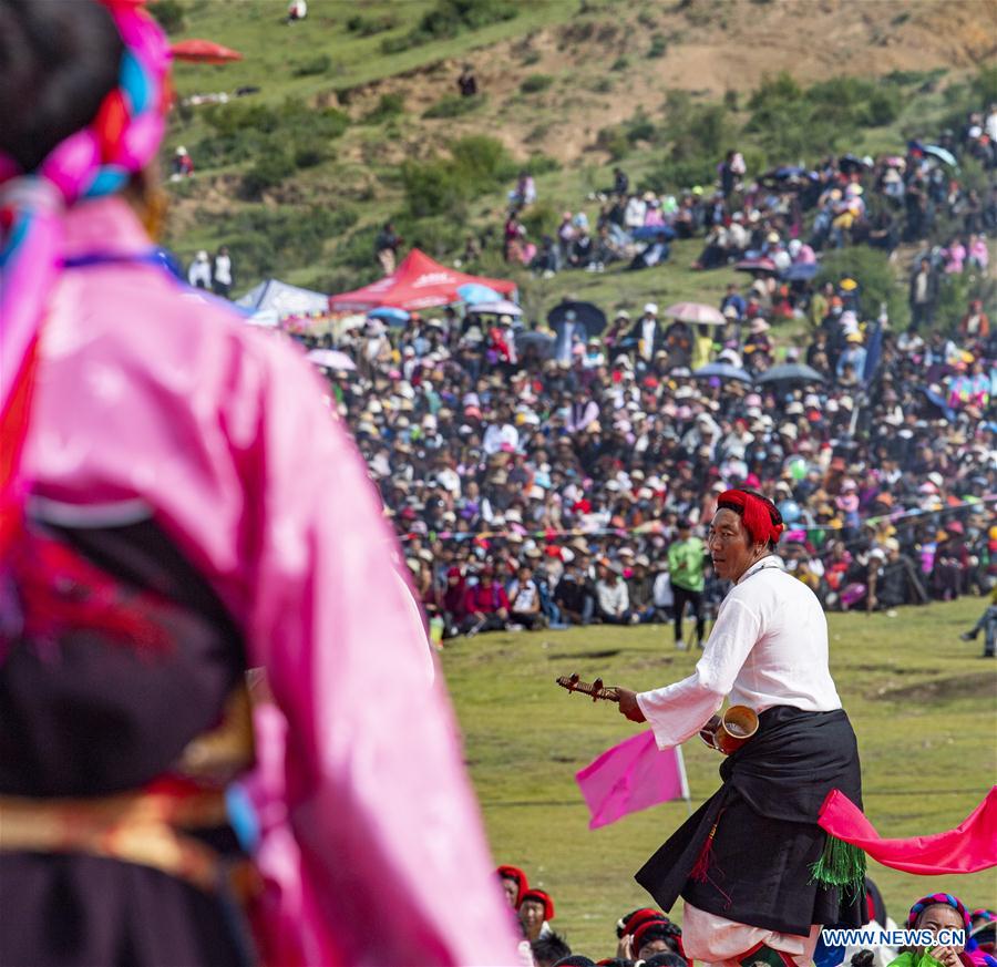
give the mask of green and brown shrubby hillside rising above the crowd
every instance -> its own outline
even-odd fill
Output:
[[[497,241],[522,165],[537,172],[536,237],[562,209],[594,217],[586,197],[610,183],[615,161],[641,186],[675,192],[708,183],[734,145],[753,171],[832,150],[876,152],[936,130],[994,84],[976,68],[993,43],[989,19],[997,30],[987,4],[979,17],[942,21],[937,4],[894,0],[867,4],[857,20],[840,0],[805,19],[787,0],[309,8],[295,25],[282,21],[282,0],[154,8],[169,14],[174,39],[209,38],[245,58],[177,64],[181,97],[259,89],[224,106],[182,106],[166,148],[168,161],[184,144],[197,166],[196,178],[171,186],[167,241],[184,258],[228,244],[243,289],[265,275],[325,291],[369,281],[373,234],[388,217],[407,243],[445,260],[469,233],[483,236],[474,268],[507,274]],[[801,60],[806,38],[813,56]],[[455,96],[464,62],[480,79],[473,102]],[[764,80],[782,68],[799,86]],[[860,69],[881,82],[833,80]],[[678,246],[671,264],[635,276],[517,278],[533,313],[571,292],[629,307],[649,296],[712,300],[727,275],[688,272],[697,251]]]

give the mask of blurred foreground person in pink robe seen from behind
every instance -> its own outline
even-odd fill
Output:
[[[172,817],[229,781],[188,753],[259,667],[266,963],[516,963],[360,455],[304,357],[140,218],[167,60],[134,0],[0,2],[0,961],[251,958]],[[204,868],[103,835],[123,801]],[[71,814],[102,835],[53,839]]]

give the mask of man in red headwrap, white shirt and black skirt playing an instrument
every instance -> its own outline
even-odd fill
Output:
[[[810,964],[821,925],[863,922],[862,857],[816,825],[832,789],[861,802],[855,735],[820,603],[774,556],[782,529],[768,498],[721,494],[708,546],[734,586],[696,671],[617,690],[620,712],[649,722],[661,749],[715,729],[727,697],[758,713],[758,732],[720,767],[721,789],[636,876],[665,911],[683,898],[686,955],[708,964]]]

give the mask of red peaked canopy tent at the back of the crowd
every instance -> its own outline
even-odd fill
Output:
[[[440,265],[424,251],[413,248],[390,276],[362,289],[330,296],[329,308],[333,312],[368,312],[382,306],[410,311],[431,309],[461,301],[458,288],[472,282],[487,286],[503,296],[511,296],[516,289],[516,284],[508,279],[469,276]]]

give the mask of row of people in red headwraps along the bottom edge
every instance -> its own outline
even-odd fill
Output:
[[[543,889],[531,887],[526,874],[516,866],[500,866],[498,879],[515,912],[523,936],[523,961],[534,967],[687,967],[682,948],[682,929],[661,911],[635,909],[616,924],[615,938],[607,932],[602,959],[574,953],[568,934],[558,934],[552,926],[554,901]],[[866,879],[868,926],[894,932],[897,924],[890,917],[882,894],[875,883]],[[952,894],[932,894],[917,901],[904,920],[907,929],[931,930],[936,939],[942,929],[964,930],[963,947],[872,948],[856,945],[843,948],[831,946],[824,938],[814,951],[815,967],[849,964],[851,967],[993,967],[994,927],[997,914],[989,909],[973,909]],[[611,950],[611,953],[609,953]],[[759,963],[768,964],[765,959]]]

